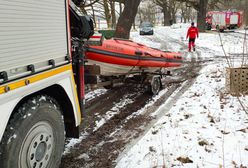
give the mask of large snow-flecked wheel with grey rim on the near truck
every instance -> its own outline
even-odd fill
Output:
[[[11,117],[0,144],[0,167],[59,167],[64,142],[58,103],[49,96],[36,96]]]

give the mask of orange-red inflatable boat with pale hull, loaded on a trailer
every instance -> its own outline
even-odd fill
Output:
[[[99,65],[101,75],[105,76],[155,72],[182,63],[180,53],[165,52],[123,39],[104,40],[101,46],[89,45],[85,55],[88,64]]]

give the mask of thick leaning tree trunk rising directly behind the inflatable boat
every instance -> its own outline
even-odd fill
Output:
[[[116,26],[115,37],[129,39],[130,30],[134,23],[135,16],[138,11],[138,6],[141,0],[126,0],[125,7],[121,16],[118,19]]]

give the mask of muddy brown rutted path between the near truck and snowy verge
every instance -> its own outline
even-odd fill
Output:
[[[185,49],[186,46],[182,47]],[[114,167],[118,156],[134,145],[193,84],[201,69],[200,63],[196,61],[200,55],[192,55],[191,58],[182,68],[172,72],[174,76],[168,77],[164,90],[156,100],[143,88],[123,85],[87,102],[87,118],[80,128],[81,133],[87,136],[71,148],[69,154],[63,156],[60,168]],[[167,102],[167,108],[153,115],[172,94],[175,94],[174,99]],[[117,108],[116,105],[125,100],[130,101],[119,106],[111,115],[113,107]],[[147,104],[149,106],[144,108]],[[96,123],[103,119],[104,123],[96,129]]]

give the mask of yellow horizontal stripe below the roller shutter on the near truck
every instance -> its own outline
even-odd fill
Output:
[[[28,84],[35,83],[35,82],[38,82],[40,80],[57,75],[59,73],[67,71],[67,70],[72,70],[71,64],[59,67],[57,69],[49,70],[49,71],[46,71],[43,73],[39,73],[39,74],[34,75],[34,76],[26,77],[26,78],[21,79],[21,80],[16,81],[16,82],[5,84],[3,86],[0,86],[0,94],[6,93],[6,90],[9,90],[9,91],[15,90],[15,89],[18,89],[20,87],[24,87]],[[28,82],[28,84],[27,84],[27,82]]]

